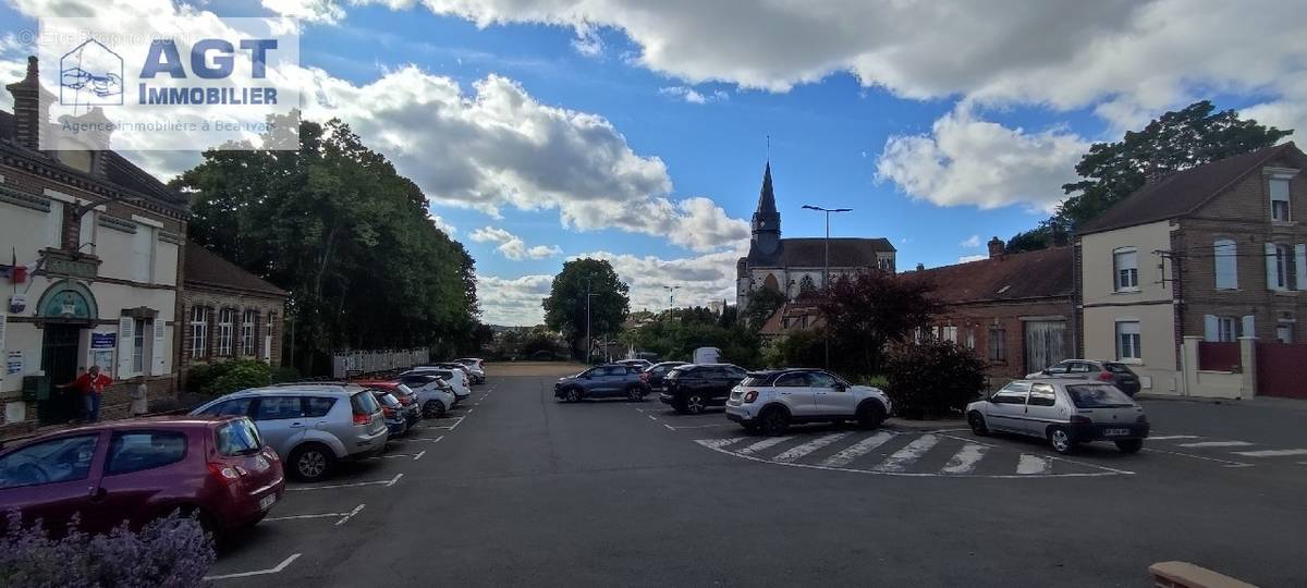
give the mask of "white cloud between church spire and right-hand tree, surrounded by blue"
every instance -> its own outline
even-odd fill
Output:
[[[1010,129],[979,120],[959,105],[928,135],[890,137],[876,175],[940,206],[1022,203],[1051,210],[1064,197],[1061,184],[1076,179],[1076,162],[1087,149],[1089,142],[1073,133]]]

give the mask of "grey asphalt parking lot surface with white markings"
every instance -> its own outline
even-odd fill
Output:
[[[491,365],[451,418],[293,483],[214,584],[1102,587],[1180,559],[1307,585],[1307,413],[1149,401],[1144,452],[1063,457],[959,429],[763,438],[654,397],[559,404],[559,367],[531,375],[548,368]]]

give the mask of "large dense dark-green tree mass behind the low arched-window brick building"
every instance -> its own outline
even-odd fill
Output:
[[[322,374],[348,348],[467,348],[473,260],[417,184],[339,120],[299,123],[299,145],[205,152],[174,183],[192,193],[192,239],[290,293],[297,367]]]

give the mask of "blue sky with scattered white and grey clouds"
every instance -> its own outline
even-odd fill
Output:
[[[1294,0],[0,3],[4,82],[42,16],[299,18],[307,115],[423,188],[498,324],[537,323],[575,256],[610,259],[635,308],[731,297],[767,136],[787,237],[822,231],[802,204],[848,206],[834,235],[911,267],[1033,226],[1091,142],[1196,99],[1307,129]]]

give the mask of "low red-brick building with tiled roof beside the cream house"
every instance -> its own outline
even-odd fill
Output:
[[[1006,253],[999,238],[989,259],[921,269],[944,304],[932,336],[974,349],[992,385],[1070,357],[1074,349],[1072,248]]]

